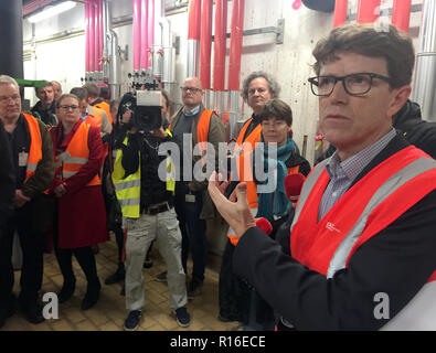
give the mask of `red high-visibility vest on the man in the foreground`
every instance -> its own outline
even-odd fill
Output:
[[[332,278],[368,239],[436,189],[436,161],[407,147],[383,161],[350,188],[318,222],[330,181],[319,163],[306,180],[291,225],[293,258]],[[357,202],[358,201],[358,202]],[[413,231],[411,231],[413,232]],[[436,330],[436,271],[383,330]]]

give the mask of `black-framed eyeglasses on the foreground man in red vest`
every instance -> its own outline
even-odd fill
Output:
[[[310,88],[313,95],[328,97],[334,89],[338,81],[342,82],[343,89],[351,96],[361,96],[370,92],[374,78],[383,79],[391,84],[391,78],[373,73],[355,73],[347,76],[316,76],[310,77]]]

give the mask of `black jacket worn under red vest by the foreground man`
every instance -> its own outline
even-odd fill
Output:
[[[407,146],[397,135],[354,183]],[[433,191],[365,242],[348,268],[331,279],[284,254],[280,245],[257,227],[240,239],[233,269],[298,330],[377,330],[387,320],[375,319],[374,296],[389,293],[390,318],[394,318],[436,268],[435,210]]]

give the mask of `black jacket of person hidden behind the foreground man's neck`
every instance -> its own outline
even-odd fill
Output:
[[[393,127],[401,131],[406,140],[436,159],[436,122],[423,120],[419,105],[407,100],[392,117]],[[316,164],[332,156],[336,147],[330,145],[317,159]]]

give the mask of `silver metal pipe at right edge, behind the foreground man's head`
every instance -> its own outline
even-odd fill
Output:
[[[436,1],[424,3],[419,38],[412,99],[425,119],[436,121]]]

